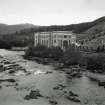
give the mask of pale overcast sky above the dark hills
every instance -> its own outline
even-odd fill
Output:
[[[0,0],[0,23],[68,25],[105,16],[105,0]]]

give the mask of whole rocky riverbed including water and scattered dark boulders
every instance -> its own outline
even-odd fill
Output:
[[[22,55],[0,49],[0,105],[105,105],[105,89],[96,81]]]

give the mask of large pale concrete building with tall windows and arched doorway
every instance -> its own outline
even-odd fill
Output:
[[[65,48],[70,44],[76,44],[76,36],[71,31],[51,31],[34,33],[34,45],[45,45],[47,47],[59,46]]]

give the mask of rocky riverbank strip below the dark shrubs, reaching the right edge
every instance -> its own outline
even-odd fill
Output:
[[[96,81],[99,86],[105,87],[105,74],[100,73],[92,73],[86,70],[83,67],[80,67],[79,65],[70,65],[65,66],[62,63],[59,63],[58,61],[55,61],[51,58],[39,58],[39,57],[30,57],[29,60],[37,61],[39,64],[45,64],[50,65],[54,67],[54,70],[64,72],[68,75],[68,78],[80,78],[82,75],[87,76],[93,81]]]

